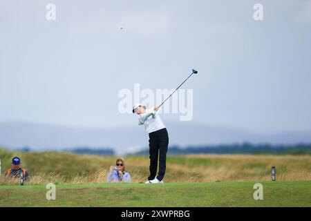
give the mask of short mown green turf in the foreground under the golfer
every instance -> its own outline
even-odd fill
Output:
[[[166,184],[59,184],[56,200],[46,186],[0,186],[0,206],[311,206],[311,181]]]

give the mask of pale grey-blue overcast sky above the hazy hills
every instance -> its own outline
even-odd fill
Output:
[[[0,122],[135,125],[122,88],[175,88],[196,68],[194,122],[311,130],[310,39],[306,0],[0,1]]]

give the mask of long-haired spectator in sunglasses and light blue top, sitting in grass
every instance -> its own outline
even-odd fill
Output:
[[[108,182],[131,182],[131,175],[125,172],[123,158],[118,158],[115,166],[110,166],[110,173],[107,178]]]

